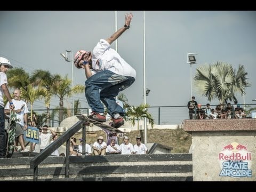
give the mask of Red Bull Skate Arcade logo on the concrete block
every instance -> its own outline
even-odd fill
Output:
[[[252,177],[252,153],[247,150],[247,145],[232,142],[223,146],[219,153],[219,162],[221,177]]]

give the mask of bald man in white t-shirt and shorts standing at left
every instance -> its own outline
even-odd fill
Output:
[[[29,150],[25,148],[25,142],[23,139],[23,131],[26,131],[28,129],[28,107],[27,103],[20,99],[20,89],[14,90],[12,102],[15,106],[14,111],[17,114],[17,118],[20,119],[20,121],[16,122],[15,145],[18,146],[19,142],[21,146],[21,152],[28,152]],[[4,108],[4,112],[6,115],[10,115],[9,107],[9,102],[7,102]]]

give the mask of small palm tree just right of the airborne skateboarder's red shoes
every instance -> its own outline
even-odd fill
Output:
[[[126,112],[126,115],[130,119],[132,126],[134,126],[135,125],[135,121],[137,121],[137,123],[138,123],[138,135],[139,135],[139,121],[142,118],[143,119],[147,118],[148,121],[149,121],[149,124],[153,128],[154,119],[152,118],[151,114],[148,113],[148,109],[147,109],[148,107],[149,107],[149,105],[147,103],[145,105],[141,104],[138,107],[132,106]]]

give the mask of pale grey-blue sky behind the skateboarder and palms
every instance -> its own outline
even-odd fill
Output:
[[[117,11],[117,28],[124,25],[124,14]],[[123,93],[134,106],[143,103],[143,11],[134,14],[131,27],[118,38],[118,52],[137,71],[135,83]],[[244,65],[251,87],[245,103],[256,103],[256,12],[255,11],[145,11],[146,87],[150,106],[184,106],[190,100],[190,65],[187,53],[197,53],[196,68],[222,61],[238,69]],[[115,11],[0,11],[0,56],[14,67],[29,73],[35,69],[66,75],[71,79],[71,63],[60,53],[92,50],[100,38],[115,31]],[[112,47],[115,47],[113,43]],[[74,85],[84,84],[84,71],[74,68]],[[196,101],[208,101],[192,89]],[[88,107],[84,94],[75,95]],[[237,94],[238,102],[243,96]],[[71,98],[68,99],[71,102]],[[212,105],[218,101],[211,101]],[[53,98],[51,106],[58,105]],[[67,106],[67,105],[66,105]],[[255,106],[254,106],[255,107]],[[35,109],[43,109],[43,101]],[[180,123],[188,118],[187,108],[177,113],[164,111],[163,124]],[[152,111],[157,115],[156,109]]]

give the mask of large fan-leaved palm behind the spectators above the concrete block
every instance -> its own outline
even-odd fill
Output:
[[[246,75],[244,66],[241,65],[236,73],[228,63],[206,64],[196,69],[195,87],[209,101],[215,98],[220,104],[227,104],[227,100],[236,100],[237,92],[245,94],[245,87],[251,85],[247,82]]]

